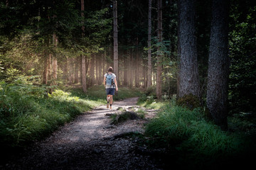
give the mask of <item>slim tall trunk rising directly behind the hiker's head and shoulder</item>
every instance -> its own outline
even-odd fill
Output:
[[[117,1],[113,2],[113,16],[114,16],[114,74],[119,79],[118,75],[118,41],[117,41]]]

